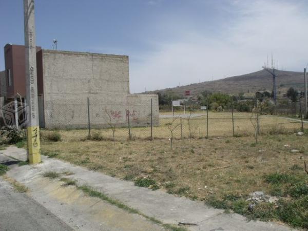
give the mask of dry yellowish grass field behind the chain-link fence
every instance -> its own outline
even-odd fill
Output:
[[[182,138],[205,138],[206,133],[206,114],[194,112],[189,117],[189,113],[179,114],[176,112],[175,118],[161,118],[160,126],[153,127],[153,138],[168,139],[171,136],[170,129],[173,129],[175,139]],[[182,113],[182,112],[181,112]],[[166,116],[166,113],[163,114]],[[171,116],[171,115],[170,115]],[[181,119],[182,117],[182,119]],[[234,113],[234,129],[236,136],[252,136],[255,133],[253,123],[256,118],[252,118],[251,113]],[[135,139],[147,139],[150,137],[150,123],[148,127],[132,127],[131,136]],[[277,118],[271,116],[261,116],[259,118],[260,133],[275,133],[277,130],[294,131],[300,128],[301,124],[296,121]],[[308,124],[304,124],[308,128]],[[51,131],[45,131],[48,133]],[[63,140],[73,141],[85,139],[88,130],[61,130]],[[99,133],[105,139],[112,139],[111,129],[92,129],[91,133]],[[230,112],[209,112],[208,114],[208,137],[231,137],[233,136],[232,114]],[[126,140],[128,138],[128,128],[116,128],[114,133],[115,140]]]

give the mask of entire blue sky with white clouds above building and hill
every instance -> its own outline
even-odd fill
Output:
[[[0,0],[0,46],[24,44],[23,1]],[[130,90],[308,64],[307,0],[40,0],[36,44],[129,55]],[[3,48],[0,70],[4,70]]]

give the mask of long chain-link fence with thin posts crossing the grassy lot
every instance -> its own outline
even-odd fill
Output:
[[[45,110],[45,132],[57,129],[64,140],[199,139],[253,136],[259,133],[294,132],[308,128],[302,117],[264,114],[254,102],[251,112],[239,112],[233,104],[220,111],[158,111],[152,99],[133,104],[105,104],[92,99],[61,101]],[[235,102],[237,103],[237,102]],[[299,107],[299,105],[297,105]],[[208,108],[208,107],[207,107]],[[303,109],[303,107],[299,107]],[[290,109],[291,110],[291,109]],[[262,113],[261,113],[262,112]],[[282,113],[283,112],[283,113]],[[44,132],[44,131],[43,131]]]

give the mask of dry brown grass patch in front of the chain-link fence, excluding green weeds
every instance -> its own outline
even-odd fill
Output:
[[[120,179],[148,177],[171,193],[204,200],[210,195],[270,191],[264,174],[292,174],[290,168],[302,166],[308,158],[306,141],[307,136],[295,134],[264,135],[259,144],[253,137],[176,140],[170,151],[168,140],[123,141],[114,146],[111,141],[64,140],[43,141],[42,152],[57,152],[56,158]]]

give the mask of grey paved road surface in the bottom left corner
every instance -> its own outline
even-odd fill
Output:
[[[0,230],[72,230],[25,193],[15,192],[0,177]]]

